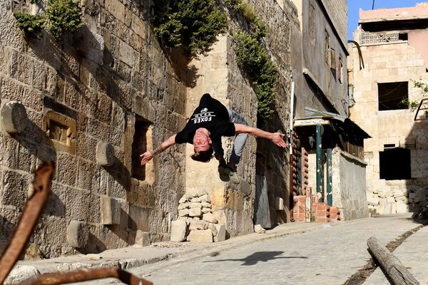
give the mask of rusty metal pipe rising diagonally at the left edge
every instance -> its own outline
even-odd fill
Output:
[[[0,284],[3,284],[10,271],[14,268],[31,234],[33,234],[51,192],[53,173],[54,162],[44,162],[35,172],[33,180],[34,193],[27,199],[18,225],[0,258]]]

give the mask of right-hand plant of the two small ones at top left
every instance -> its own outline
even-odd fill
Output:
[[[66,31],[78,31],[83,22],[78,2],[73,0],[49,0],[46,9],[46,29],[56,41],[60,41]]]

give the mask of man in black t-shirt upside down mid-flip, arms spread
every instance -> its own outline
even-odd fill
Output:
[[[193,144],[193,149],[195,150],[195,154],[192,155],[193,160],[208,162],[213,157],[213,152],[215,152],[215,158],[219,161],[218,172],[220,179],[223,181],[230,180],[238,184],[236,165],[240,161],[248,134],[258,138],[269,139],[275,145],[285,147],[283,134],[269,133],[259,128],[248,126],[239,113],[235,112],[235,110],[228,110],[222,103],[212,98],[210,94],[205,93],[200,98],[198,107],[190,116],[183,130],[170,136],[156,150],[149,150],[140,155],[142,157],[141,165],[145,165],[154,155],[163,152],[175,143],[188,142]],[[233,151],[228,163],[226,163],[223,157],[221,137],[232,137],[234,135]]]

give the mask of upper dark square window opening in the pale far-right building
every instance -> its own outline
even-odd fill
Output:
[[[407,103],[405,103],[405,101],[409,100],[408,90],[409,83],[407,81],[377,83],[379,111],[400,110],[409,108]]]

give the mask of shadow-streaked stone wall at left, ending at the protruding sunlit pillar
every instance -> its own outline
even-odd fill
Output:
[[[1,104],[20,100],[29,124],[22,134],[0,133],[1,243],[42,160],[54,160],[56,172],[31,239],[39,257],[125,247],[136,237],[144,237],[142,244],[168,239],[184,192],[185,149],[172,147],[145,168],[136,165],[139,153],[185,124],[187,71],[180,54],[161,51],[148,22],[149,1],[82,1],[85,26],[61,43],[47,34],[24,39],[12,11],[41,7],[10,3],[0,2]],[[97,164],[100,142],[113,146],[111,167]],[[114,222],[103,219],[112,211]],[[72,221],[88,231],[78,249],[65,242]]]

